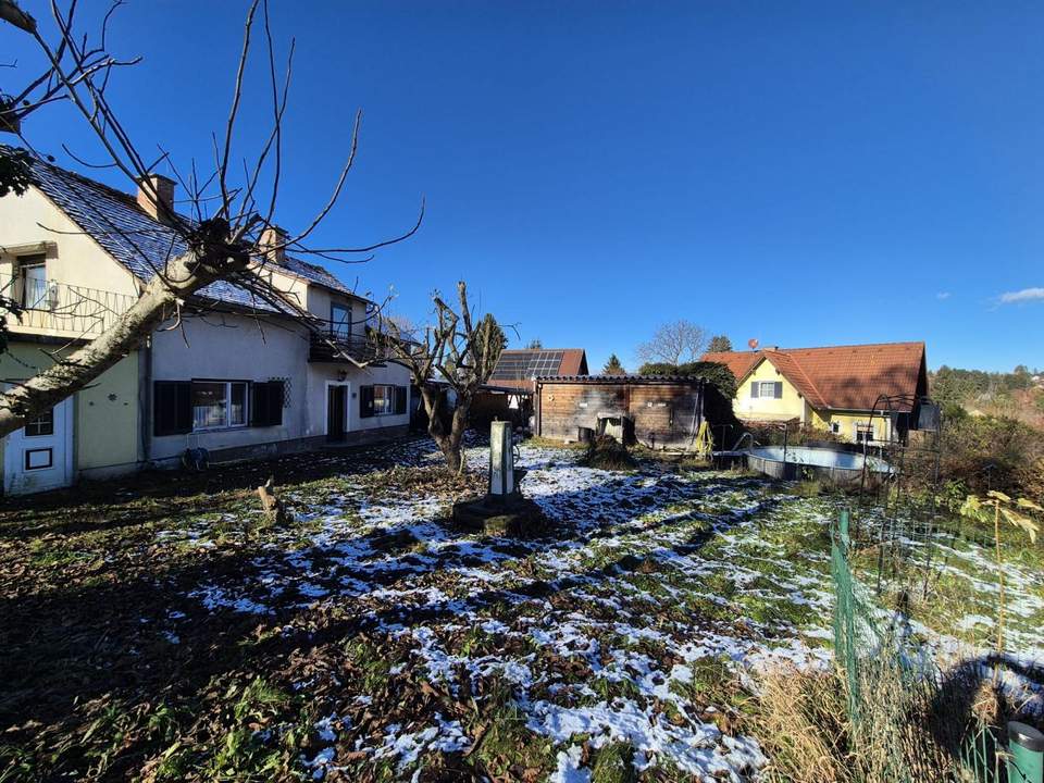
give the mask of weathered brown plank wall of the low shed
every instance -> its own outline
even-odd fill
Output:
[[[656,448],[688,446],[703,421],[696,384],[556,383],[540,386],[539,434],[575,440],[580,427],[597,428],[599,417],[627,415],[635,438]]]

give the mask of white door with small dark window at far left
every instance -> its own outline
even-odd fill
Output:
[[[73,401],[66,399],[8,435],[3,492],[28,495],[72,483]]]

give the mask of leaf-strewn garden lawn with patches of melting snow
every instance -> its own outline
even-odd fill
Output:
[[[845,499],[580,456],[523,448],[545,538],[455,530],[485,480],[424,444],[4,501],[0,781],[748,779],[757,672],[829,658]],[[1044,596],[1021,568],[1016,634]]]

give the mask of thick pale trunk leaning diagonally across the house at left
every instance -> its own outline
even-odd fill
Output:
[[[49,408],[79,391],[116,364],[152,334],[174,312],[178,300],[220,277],[246,269],[248,256],[221,253],[215,263],[204,263],[196,253],[172,260],[146,286],[141,297],[115,323],[67,359],[0,395],[0,437],[23,426]]]

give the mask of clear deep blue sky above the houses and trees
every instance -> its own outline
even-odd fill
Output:
[[[139,146],[207,159],[245,8],[117,12],[112,49],[144,62],[110,97]],[[361,108],[358,163],[316,243],[394,235],[424,195],[414,238],[331,264],[377,298],[394,285],[414,320],[463,278],[517,324],[513,344],[583,347],[593,369],[613,351],[633,368],[635,346],[678,318],[737,346],[923,339],[933,368],[1044,366],[1040,3],[272,12],[281,50],[297,39],[278,222],[300,227],[325,200]],[[22,38],[0,30],[0,51],[27,72]],[[270,111],[262,66],[245,153]],[[61,107],[26,133],[71,167],[62,141],[96,151]]]

